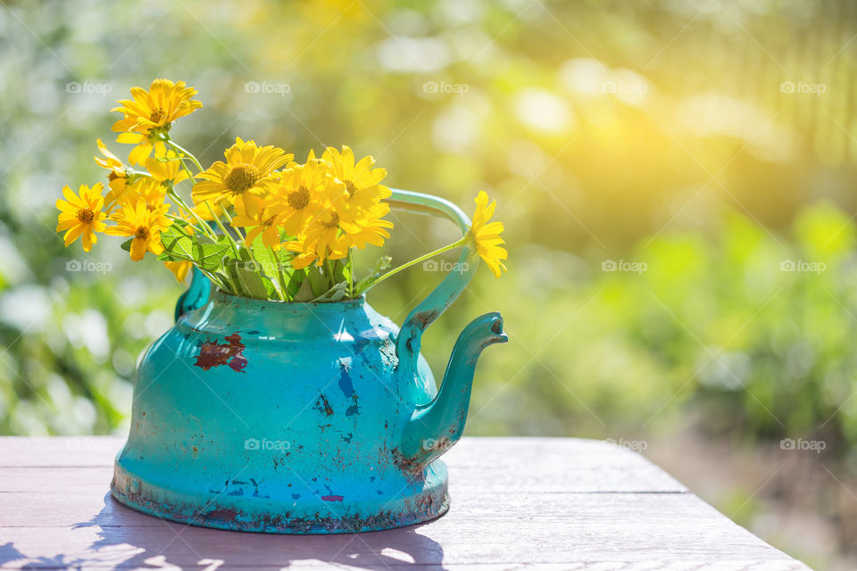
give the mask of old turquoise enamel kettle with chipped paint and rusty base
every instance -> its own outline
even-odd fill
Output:
[[[396,209],[470,220],[428,194]],[[437,390],[420,337],[478,265],[455,271],[400,329],[365,298],[300,303],[212,292],[195,271],[177,321],[137,368],[112,495],[222,529],[338,534],[411,525],[449,507],[438,460],[462,436],[479,354],[507,340],[488,313],[464,328]]]

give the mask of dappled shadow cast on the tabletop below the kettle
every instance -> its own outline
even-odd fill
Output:
[[[419,525],[366,534],[228,532],[146,516],[121,505],[109,493],[104,496],[104,509],[96,517],[76,525],[90,526],[99,528],[98,535],[102,539],[89,546],[89,556],[75,561],[52,560],[44,563],[69,567],[118,563],[117,546],[124,546],[127,552],[132,553],[129,559],[118,563],[119,566],[144,569],[167,565],[181,568],[279,568],[289,567],[293,562],[302,560],[389,569],[418,565],[441,567],[444,559],[444,550],[439,543],[416,533]],[[13,546],[9,547],[14,550]],[[3,559],[0,555],[0,561]]]

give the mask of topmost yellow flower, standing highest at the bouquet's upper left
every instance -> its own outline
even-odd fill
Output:
[[[120,134],[120,143],[137,145],[129,154],[132,164],[144,164],[152,153],[163,152],[162,137],[170,130],[172,121],[189,115],[203,106],[194,99],[196,89],[185,87],[184,81],[173,83],[169,79],[155,79],[149,90],[131,87],[133,99],[123,99],[111,111],[124,114],[113,123],[112,129]]]

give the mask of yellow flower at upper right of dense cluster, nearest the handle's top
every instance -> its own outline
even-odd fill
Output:
[[[342,152],[329,146],[321,159],[329,163],[334,176],[345,185],[347,192],[334,204],[341,219],[359,219],[364,211],[390,196],[390,189],[379,184],[387,176],[387,170],[373,169],[373,157],[363,157],[354,164],[354,151],[343,145]]]

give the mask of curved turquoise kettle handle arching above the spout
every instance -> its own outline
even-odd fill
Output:
[[[470,228],[470,218],[462,209],[443,198],[431,194],[415,193],[409,190],[391,188],[387,198],[391,208],[412,211],[452,220],[462,231],[462,236]],[[402,324],[396,339],[395,352],[399,358],[398,375],[412,378],[417,372],[417,360],[420,356],[422,333],[435,319],[448,308],[470,283],[476,272],[479,257],[471,244],[462,246],[462,255],[453,271],[432,290],[428,297],[415,307]]]

